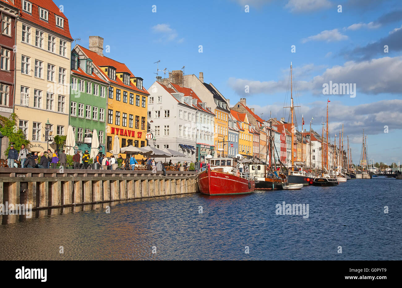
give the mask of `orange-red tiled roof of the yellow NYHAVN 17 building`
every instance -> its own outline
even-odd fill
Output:
[[[112,80],[107,76],[107,74],[105,74],[105,72],[102,71],[102,69],[100,69],[100,67],[104,67],[104,66],[113,66],[116,68],[116,73],[126,72],[126,73],[130,74],[131,78],[135,77],[131,73],[130,69],[128,69],[124,63],[120,63],[120,62],[113,60],[106,56],[100,56],[96,52],[90,51],[89,49],[86,49],[86,48],[82,47],[81,45],[78,45],[78,47],[80,47],[80,49],[82,49],[82,51],[86,54],[86,56],[88,56],[88,58],[90,58],[92,60],[92,63],[94,63],[96,66],[98,66],[99,70],[106,76],[107,79],[109,79],[109,81],[111,83],[114,83],[121,87],[125,87],[128,89],[131,89],[131,90],[134,90],[137,92],[142,92],[142,93],[149,95],[148,91],[144,88],[144,86],[142,87],[142,90],[140,90],[132,82],[130,82],[130,85],[124,84],[123,81],[121,81],[121,79],[119,77],[116,77],[115,80]]]

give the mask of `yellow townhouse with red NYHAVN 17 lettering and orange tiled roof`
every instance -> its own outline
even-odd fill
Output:
[[[143,87],[143,78],[135,77],[124,63],[104,56],[102,37],[90,36],[89,49],[79,48],[109,82],[105,112],[106,155],[112,155],[116,135],[121,148],[146,146],[149,93]]]

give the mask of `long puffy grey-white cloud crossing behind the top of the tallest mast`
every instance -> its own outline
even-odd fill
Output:
[[[310,64],[309,64],[310,65]],[[309,65],[301,67],[308,71]],[[314,66],[317,69],[321,66]],[[294,73],[297,73],[297,67]],[[311,67],[310,67],[311,68]],[[301,78],[305,76],[299,73]],[[322,95],[322,85],[324,83],[355,83],[357,96],[364,94],[398,94],[402,93],[400,85],[402,79],[402,56],[399,57],[382,57],[369,61],[348,61],[343,65],[336,65],[324,71],[324,73],[310,77],[310,80],[297,80],[296,86],[299,92],[308,91],[316,95]],[[228,85],[241,96],[250,96],[255,94],[274,94],[277,92],[286,92],[288,90],[288,77],[283,75],[280,80],[258,81],[248,79],[229,78]],[[249,86],[249,93],[244,93],[244,86]],[[342,96],[342,95],[340,95]],[[348,95],[346,95],[349,97]]]

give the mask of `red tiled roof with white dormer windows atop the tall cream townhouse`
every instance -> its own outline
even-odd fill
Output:
[[[59,7],[51,0],[29,0],[32,3],[32,14],[24,12],[22,9],[22,1],[21,0],[14,0],[14,4],[10,1],[0,0],[5,2],[9,5],[12,5],[20,10],[20,17],[24,18],[28,21],[31,21],[41,27],[49,29],[59,35],[67,37],[71,41],[73,40],[70,34],[70,28],[68,27],[68,19],[66,15],[60,12]],[[48,13],[48,22],[41,20],[39,18],[39,7],[47,10]],[[62,17],[64,20],[63,29],[56,26],[56,18],[55,15]]]

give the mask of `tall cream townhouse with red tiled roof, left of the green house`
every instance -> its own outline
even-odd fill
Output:
[[[31,142],[29,150],[54,150],[45,137],[66,135],[70,103],[70,51],[72,37],[67,17],[52,1],[14,0],[16,61],[14,112],[19,128]],[[47,140],[50,140],[47,141]]]

